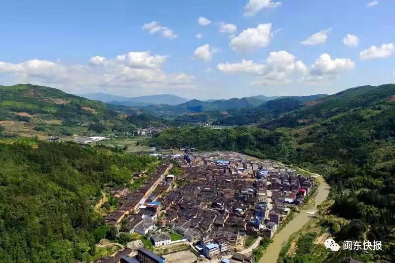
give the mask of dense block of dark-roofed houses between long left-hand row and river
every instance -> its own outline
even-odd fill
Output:
[[[159,224],[197,243],[207,258],[242,247],[246,235],[273,237],[289,204],[302,204],[313,187],[311,178],[271,162],[190,154],[179,162],[185,185],[160,200]]]

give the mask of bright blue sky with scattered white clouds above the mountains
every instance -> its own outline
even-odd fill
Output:
[[[394,83],[394,12],[393,0],[1,1],[0,83],[197,99]]]

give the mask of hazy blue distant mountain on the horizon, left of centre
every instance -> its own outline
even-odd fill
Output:
[[[147,106],[147,105],[178,105],[188,100],[172,94],[157,94],[140,97],[122,97],[106,93],[88,93],[80,95],[90,100],[102,101],[115,105],[124,106]]]

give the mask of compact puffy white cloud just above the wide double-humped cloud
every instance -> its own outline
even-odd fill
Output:
[[[243,30],[237,37],[231,39],[229,45],[236,51],[251,51],[268,46],[272,38],[272,24],[259,24],[256,28]]]

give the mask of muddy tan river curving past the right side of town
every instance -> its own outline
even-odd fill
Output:
[[[317,189],[317,196],[314,200],[315,206],[313,208],[301,210],[294,219],[292,219],[273,237],[273,243],[271,243],[266,249],[265,254],[259,261],[260,263],[276,263],[281,248],[286,245],[289,236],[296,231],[299,231],[303,225],[306,225],[309,220],[314,217],[313,214],[316,212],[317,205],[321,204],[328,197],[329,185],[325,182],[322,176],[316,176],[315,178],[320,183]]]

